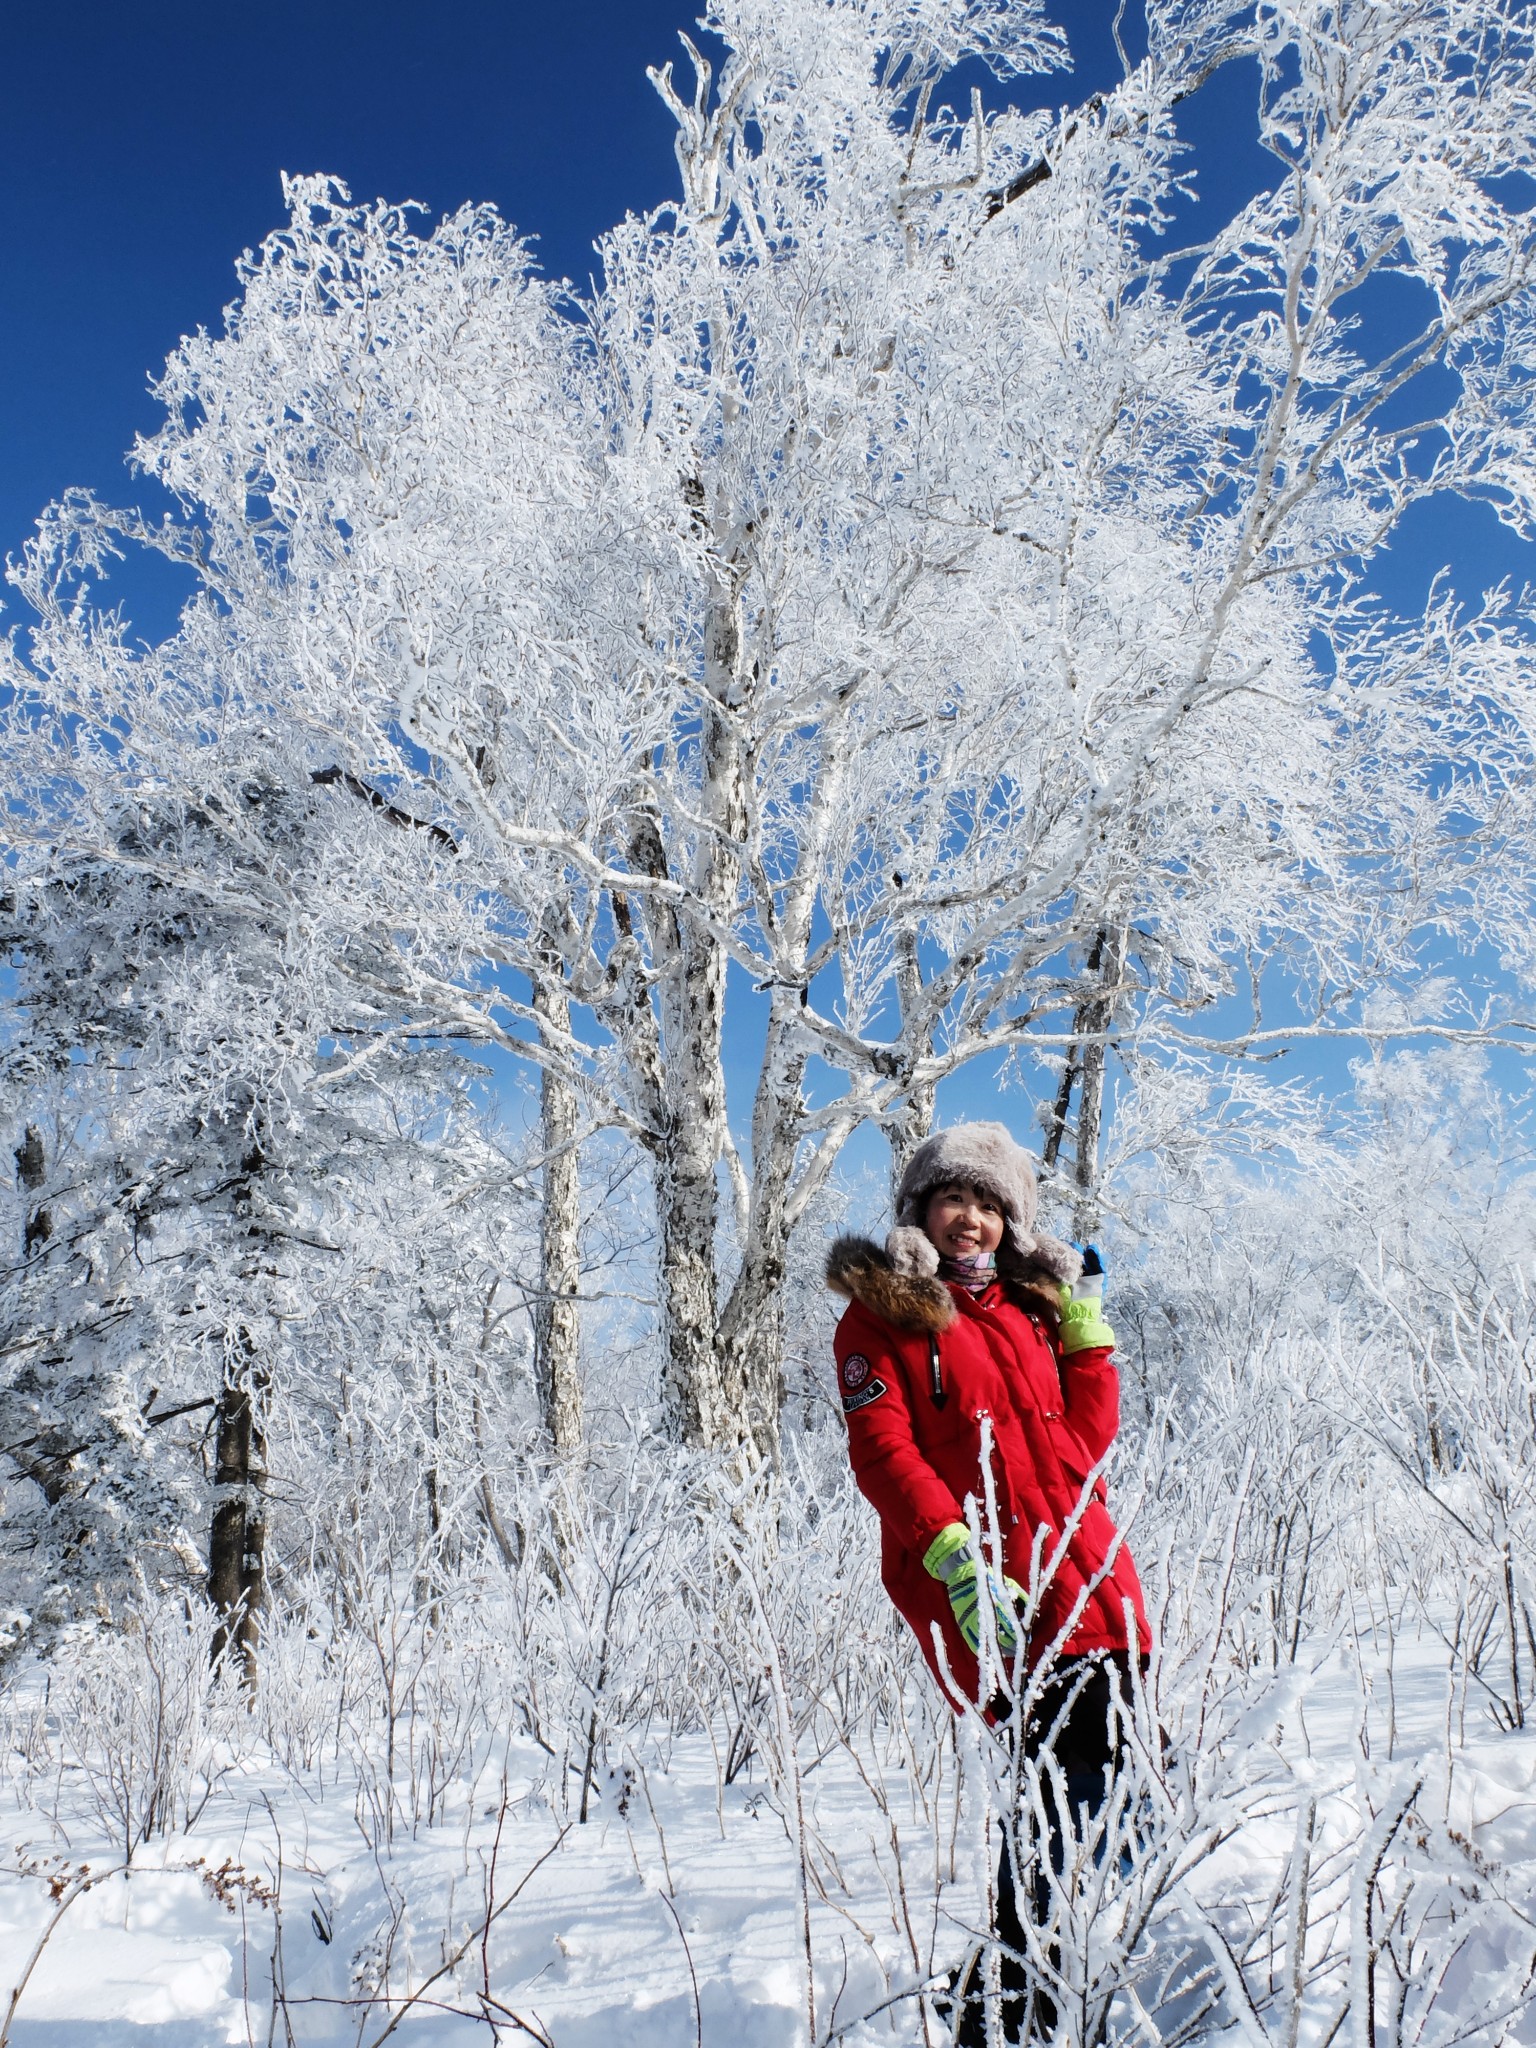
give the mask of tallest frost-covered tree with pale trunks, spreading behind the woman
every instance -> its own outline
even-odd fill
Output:
[[[1536,121],[1501,0],[1147,0],[1061,115],[952,104],[965,59],[993,98],[1063,59],[1034,4],[707,27],[655,74],[680,190],[586,297],[485,209],[291,184],[139,446],[184,516],[45,522],[6,750],[33,840],[90,846],[63,780],[328,791],[313,942],[389,1028],[571,1090],[551,1153],[582,1108],[645,1151],[670,1427],[766,1446],[788,1235],[860,1122],[901,1147],[1036,1055],[1090,1225],[1110,1034],[1241,1049],[1276,969],[1352,1028],[1458,928],[1528,971],[1526,602],[1399,618],[1368,565],[1442,494],[1530,526]],[[1274,182],[1221,221],[1178,123],[1231,66]],[[147,653],[80,604],[121,532],[199,580]]]

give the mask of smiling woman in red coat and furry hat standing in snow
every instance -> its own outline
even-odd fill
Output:
[[[1034,1210],[1034,1169],[1001,1124],[956,1124],[920,1145],[885,1251],[862,1237],[831,1247],[827,1282],[850,1303],[836,1335],[838,1389],[854,1479],[881,1518],[881,1579],[934,1677],[952,1704],[958,1694],[991,1718],[1008,1714],[1004,1694],[979,1698],[987,1604],[1006,1665],[1028,1673],[1053,1659],[1024,1743],[1036,1755],[1049,1747],[1071,1806],[1094,1810],[1114,1767],[1112,1702],[1130,1657],[1145,1655],[1147,1612],[1104,1481],[1090,1485],[1120,1419],[1114,1333],[1087,1288],[1073,1298],[1083,1260],[1036,1235]],[[983,1419],[991,1559],[977,1556],[967,1522],[975,1501],[985,1534]],[[1053,1810],[1042,1847],[1061,1872]],[[1047,1903],[1040,1872],[1036,1917]],[[1004,1989],[1018,1991],[1024,1933],[1008,1851],[997,1935],[1014,1952]],[[1036,1995],[1036,2023],[1049,2030],[1044,2007]],[[1018,2040],[1018,1997],[1004,2019]],[[979,2001],[963,1995],[956,2038],[981,2040],[979,2025]]]

